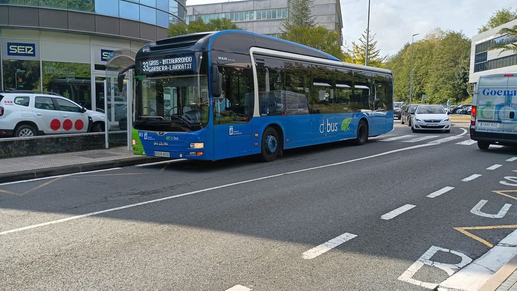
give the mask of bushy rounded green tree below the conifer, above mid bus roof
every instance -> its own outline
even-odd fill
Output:
[[[344,59],[339,34],[321,25],[316,27],[291,26],[281,37],[326,52],[340,60]]]

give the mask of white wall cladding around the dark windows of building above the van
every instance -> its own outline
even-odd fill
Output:
[[[479,76],[486,75],[486,74],[500,74],[500,73],[517,73],[517,65],[515,66],[509,66],[509,67],[503,67],[503,68],[497,68],[493,70],[485,70],[480,72],[474,72],[474,61],[476,56],[476,45],[479,45],[479,43],[494,39],[496,37],[499,37],[500,35],[498,32],[503,27],[512,27],[513,25],[517,25],[517,19],[512,20],[510,22],[507,22],[503,25],[497,26],[492,28],[491,30],[485,31],[483,33],[480,33],[478,35],[475,35],[472,37],[472,44],[470,46],[470,70],[469,70],[469,83],[476,83],[479,79]],[[501,50],[493,50],[488,51],[488,55],[486,59],[488,61],[498,59],[499,57],[504,57],[508,55],[512,55],[514,53],[511,52],[503,52],[500,53]],[[500,53],[500,54],[499,54]]]

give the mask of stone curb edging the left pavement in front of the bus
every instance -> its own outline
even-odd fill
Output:
[[[89,171],[95,171],[95,170],[119,168],[119,167],[122,168],[122,167],[128,167],[128,166],[139,165],[139,164],[162,162],[162,161],[166,161],[168,159],[169,158],[141,156],[141,157],[130,157],[130,158],[117,159],[117,160],[113,160],[113,161],[94,162],[94,163],[70,165],[70,166],[63,166],[63,167],[52,167],[52,168],[42,168],[42,169],[35,169],[35,170],[0,173],[0,183],[29,180],[29,179],[36,179],[36,178],[46,178],[46,177],[52,177],[52,176],[59,176],[59,175],[63,175],[63,174],[82,173],[82,172],[89,172]]]

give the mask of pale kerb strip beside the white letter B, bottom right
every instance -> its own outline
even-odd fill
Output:
[[[472,264],[440,283],[438,290],[478,290],[515,255],[517,255],[517,230],[514,230]]]

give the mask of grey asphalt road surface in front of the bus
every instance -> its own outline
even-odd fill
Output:
[[[462,267],[515,230],[454,227],[517,224],[517,207],[504,208],[517,195],[493,192],[517,191],[505,179],[517,176],[507,161],[517,151],[466,144],[467,125],[396,124],[364,146],[288,150],[271,163],[175,161],[0,185],[10,193],[0,193],[0,289],[429,290],[449,274],[416,268],[422,255]]]

